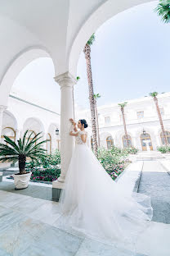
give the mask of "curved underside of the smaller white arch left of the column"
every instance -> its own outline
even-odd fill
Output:
[[[22,71],[25,66],[39,57],[50,57],[50,55],[47,53],[47,50],[41,46],[25,48],[24,51],[16,54],[16,57],[14,57],[9,66],[7,66],[0,83],[0,102],[3,106],[7,106],[8,96],[17,75],[20,74],[20,71]]]

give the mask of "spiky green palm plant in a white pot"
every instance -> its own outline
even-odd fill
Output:
[[[41,145],[49,141],[49,139],[38,142],[42,136],[38,137],[42,132],[39,132],[37,135],[34,135],[34,138],[31,138],[31,135],[34,133],[32,131],[26,139],[26,135],[29,130],[25,131],[23,139],[17,140],[15,143],[8,136],[4,135],[4,141],[7,144],[0,143],[0,161],[2,162],[19,162],[20,172],[14,174],[14,183],[16,189],[25,189],[28,187],[31,171],[25,171],[25,162],[26,158],[30,158],[34,162],[38,162],[38,159],[45,156],[46,149],[42,149]],[[36,143],[36,144],[35,144]]]

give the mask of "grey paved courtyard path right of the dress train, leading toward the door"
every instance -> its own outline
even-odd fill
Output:
[[[152,221],[170,224],[170,176],[159,161],[144,162],[138,192],[151,197]]]

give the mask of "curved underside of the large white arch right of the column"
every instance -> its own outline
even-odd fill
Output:
[[[83,51],[84,45],[93,33],[105,22],[119,12],[128,10],[129,8],[135,7],[146,2],[153,2],[150,0],[106,0],[100,7],[92,12],[88,16],[87,20],[83,23],[78,34],[73,40],[72,46],[70,47],[68,54],[69,72],[76,75],[78,58],[80,53]]]

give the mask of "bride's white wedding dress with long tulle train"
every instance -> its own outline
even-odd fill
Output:
[[[112,180],[78,131],[61,191],[58,227],[112,245],[132,245],[153,216],[150,197]]]

